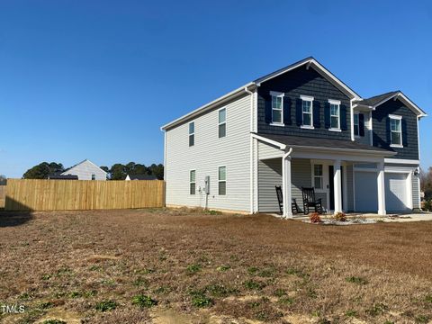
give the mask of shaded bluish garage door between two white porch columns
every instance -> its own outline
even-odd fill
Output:
[[[375,172],[355,173],[356,211],[378,211],[378,184]]]

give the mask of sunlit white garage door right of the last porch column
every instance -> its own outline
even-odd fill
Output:
[[[408,211],[407,174],[385,173],[385,209]]]

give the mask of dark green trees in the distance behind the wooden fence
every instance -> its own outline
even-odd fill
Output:
[[[111,167],[100,166],[108,175],[108,180],[124,180],[126,175],[155,175],[157,179],[164,179],[164,166],[162,164],[143,164],[129,162],[126,165],[116,163]],[[66,168],[61,163],[42,162],[37,166],[32,166],[23,174],[23,179],[48,179],[49,175],[58,175]]]

